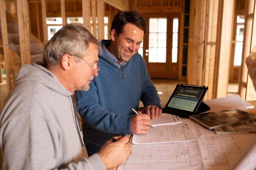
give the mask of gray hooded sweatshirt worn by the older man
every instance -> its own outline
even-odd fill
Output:
[[[70,93],[41,65],[24,65],[0,114],[3,169],[105,169],[88,159]]]

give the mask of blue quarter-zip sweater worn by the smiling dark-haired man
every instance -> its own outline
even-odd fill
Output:
[[[138,109],[140,100],[144,106],[161,108],[141,55],[133,55],[120,70],[102,53],[99,65],[101,70],[90,83],[90,89],[75,92],[82,118],[83,140],[90,154],[98,152],[113,136],[131,134],[130,123],[134,115],[131,108]]]

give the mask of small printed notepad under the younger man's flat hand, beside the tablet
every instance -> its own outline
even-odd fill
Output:
[[[153,127],[182,123],[181,119],[178,116],[168,114],[168,113],[162,113],[162,115],[159,116],[158,118],[150,119],[150,122],[152,123]]]

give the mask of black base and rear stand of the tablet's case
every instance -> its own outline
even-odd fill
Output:
[[[198,114],[198,113],[202,113],[205,112],[207,110],[210,110],[210,107],[208,105],[206,105],[204,102],[201,102],[200,105],[198,106],[198,109],[195,113],[186,113],[186,112],[182,112],[181,111],[177,111],[171,108],[167,108],[164,107],[162,109],[163,113],[169,113],[169,114],[173,114],[173,115],[177,115],[179,117],[183,117],[183,118],[189,118],[189,115],[194,115],[194,114]]]

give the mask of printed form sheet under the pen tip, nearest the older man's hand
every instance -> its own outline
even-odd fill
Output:
[[[190,142],[197,140],[187,124],[156,126],[145,135],[133,135],[133,144]]]

